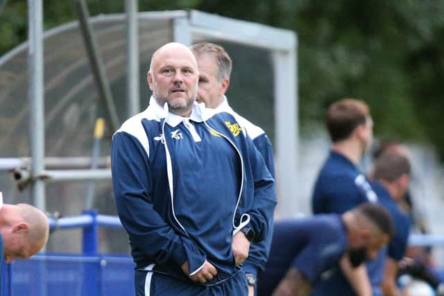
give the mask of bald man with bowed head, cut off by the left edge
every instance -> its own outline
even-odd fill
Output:
[[[28,259],[42,249],[48,240],[48,218],[29,204],[3,204],[0,192],[0,233],[0,268],[3,268],[5,262]]]

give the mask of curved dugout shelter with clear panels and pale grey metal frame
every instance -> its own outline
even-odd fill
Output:
[[[73,202],[76,196],[82,198],[83,187],[69,182],[96,180],[110,187],[110,170],[105,165],[94,170],[67,165],[60,170],[47,164],[48,157],[63,164],[73,157],[91,155],[94,122],[107,118],[109,106],[96,87],[90,49],[85,47],[78,21],[39,35],[39,8],[30,11],[36,11],[30,16],[30,41],[0,57],[0,185],[4,191],[15,192],[4,169],[30,165],[35,177],[33,202],[51,210]],[[230,104],[264,128],[273,141],[278,214],[296,213],[298,204],[291,198],[296,191],[298,155],[296,33],[196,10],[135,15],[133,11],[133,15],[98,15],[87,21],[119,124],[146,107],[151,94],[146,71],[155,49],[171,41],[222,44],[234,62]],[[109,155],[109,136],[114,131],[110,121],[107,127],[108,137],[100,150],[103,156]],[[33,157],[31,162],[21,159],[27,156]],[[54,195],[58,199],[68,195],[70,201],[57,204]],[[76,207],[82,209],[82,202]]]

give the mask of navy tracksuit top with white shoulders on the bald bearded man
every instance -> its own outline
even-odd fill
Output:
[[[151,98],[114,134],[111,157],[117,211],[137,268],[154,264],[185,277],[182,263],[194,275],[207,260],[230,276],[234,229],[248,219],[258,242],[272,223],[273,177],[227,112],[195,104],[183,119]]]

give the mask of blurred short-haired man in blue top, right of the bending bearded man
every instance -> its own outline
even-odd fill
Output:
[[[401,210],[397,202],[404,198],[409,187],[411,168],[406,155],[386,151],[377,158],[370,182],[377,194],[378,203],[382,204],[391,214],[395,225],[395,235],[388,247],[379,252],[377,259],[366,264],[373,296],[399,296],[397,285],[398,263],[404,257],[409,238],[409,218]],[[345,275],[345,277],[343,277]],[[350,282],[355,280],[353,270],[334,270],[324,277],[316,286],[317,295],[356,295]],[[347,281],[348,279],[348,281]]]

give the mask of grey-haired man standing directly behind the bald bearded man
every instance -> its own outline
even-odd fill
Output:
[[[273,148],[262,128],[250,123],[239,114],[234,112],[228,99],[225,96],[230,85],[230,74],[232,70],[232,60],[230,55],[222,46],[212,43],[199,43],[190,46],[196,56],[199,71],[199,87],[196,101],[205,103],[205,106],[216,110],[216,112],[229,112],[233,114],[237,121],[246,128],[248,136],[253,139],[257,150],[264,157],[264,161],[273,178],[275,177],[275,167],[273,160]],[[271,235],[273,234],[273,211],[269,213],[272,220],[268,228],[268,234],[264,241],[250,245],[248,258],[244,262],[243,269],[248,279],[248,294],[254,295],[254,287],[257,275],[264,270],[268,252],[270,250]]]

